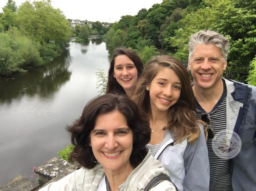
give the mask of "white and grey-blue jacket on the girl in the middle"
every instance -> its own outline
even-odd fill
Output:
[[[155,159],[170,173],[170,178],[179,191],[208,191],[210,181],[210,165],[208,149],[203,126],[200,125],[200,136],[193,144],[187,139],[174,144],[170,131],[155,153]]]

